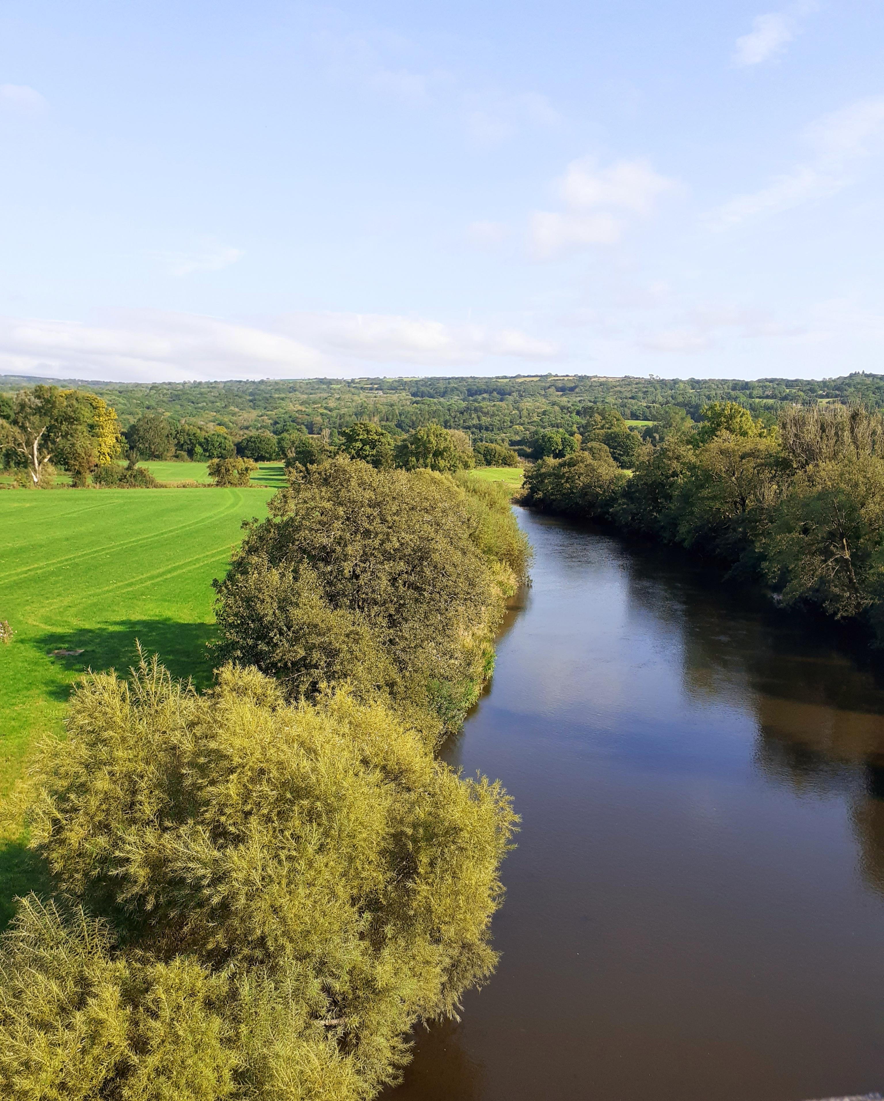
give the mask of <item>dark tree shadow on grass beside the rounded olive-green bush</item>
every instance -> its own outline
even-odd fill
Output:
[[[145,654],[159,654],[173,677],[190,677],[197,688],[211,683],[214,654],[208,647],[215,634],[211,623],[181,623],[175,620],[121,620],[100,628],[52,631],[34,639],[33,645],[67,674],[99,673],[114,668],[125,676],[138,662],[137,643]],[[81,653],[75,653],[81,651]],[[65,653],[66,652],[66,653]],[[66,700],[69,677],[48,688],[54,699]]]

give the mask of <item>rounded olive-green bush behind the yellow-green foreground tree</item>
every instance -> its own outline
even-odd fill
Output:
[[[456,724],[521,568],[483,544],[483,509],[448,478],[343,456],[293,478],[215,582],[220,653],[291,698],[349,682]]]

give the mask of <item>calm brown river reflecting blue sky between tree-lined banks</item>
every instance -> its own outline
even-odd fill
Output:
[[[523,818],[503,956],[386,1101],[884,1089],[884,655],[521,522],[534,584],[449,752]]]

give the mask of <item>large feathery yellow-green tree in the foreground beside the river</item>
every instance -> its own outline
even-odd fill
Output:
[[[9,1101],[365,1101],[495,963],[505,793],[346,694],[90,675],[39,765],[57,898],[0,956]]]

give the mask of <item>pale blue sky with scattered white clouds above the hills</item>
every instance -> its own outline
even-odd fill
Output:
[[[0,373],[884,371],[884,0],[0,2]]]

